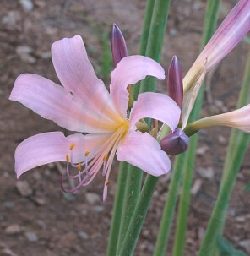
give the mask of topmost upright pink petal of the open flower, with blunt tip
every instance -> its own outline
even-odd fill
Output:
[[[106,109],[111,118],[116,114],[105,85],[95,75],[80,35],[54,42],[52,61],[58,78],[68,91],[82,101],[92,102],[92,109]]]

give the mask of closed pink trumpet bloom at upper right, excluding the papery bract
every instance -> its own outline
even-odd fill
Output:
[[[192,86],[194,80],[202,72],[206,59],[208,59],[207,71],[209,71],[247,35],[250,30],[249,9],[250,1],[241,0],[227,15],[185,76],[183,80],[184,91]]]

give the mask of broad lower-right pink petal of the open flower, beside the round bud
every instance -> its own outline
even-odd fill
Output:
[[[154,176],[166,174],[171,161],[149,133],[130,132],[117,148],[117,160],[127,161]]]

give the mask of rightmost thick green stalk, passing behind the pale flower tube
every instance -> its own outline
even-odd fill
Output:
[[[237,107],[242,107],[249,101],[250,92],[250,53],[248,53],[247,65],[242,81],[242,89],[237,102]],[[232,130],[229,140],[229,147],[226,153],[226,161],[223,168],[223,175],[220,182],[220,192],[215,204],[215,208],[209,220],[207,231],[205,232],[204,241],[199,250],[199,255],[203,255],[205,248],[211,248],[208,255],[217,255],[215,239],[223,233],[226,221],[226,209],[229,204],[231,191],[234,188],[237,174],[242,166],[244,155],[247,151],[247,145],[250,141],[250,135],[241,131]],[[227,193],[227,194],[226,194]]]

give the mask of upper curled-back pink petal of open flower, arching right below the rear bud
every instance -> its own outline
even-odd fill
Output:
[[[159,63],[139,55],[123,57],[117,64],[117,68],[111,72],[111,98],[122,117],[127,116],[128,85],[137,83],[147,75],[165,79],[164,69]]]

